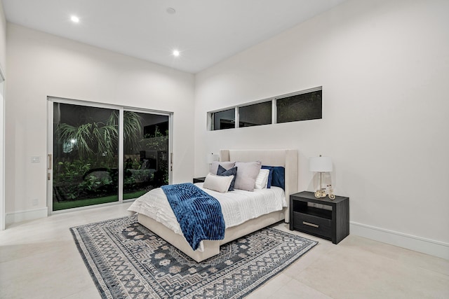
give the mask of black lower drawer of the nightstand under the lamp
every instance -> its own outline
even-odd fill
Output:
[[[330,219],[293,212],[294,228],[303,232],[309,232],[311,235],[319,235],[330,238]]]

